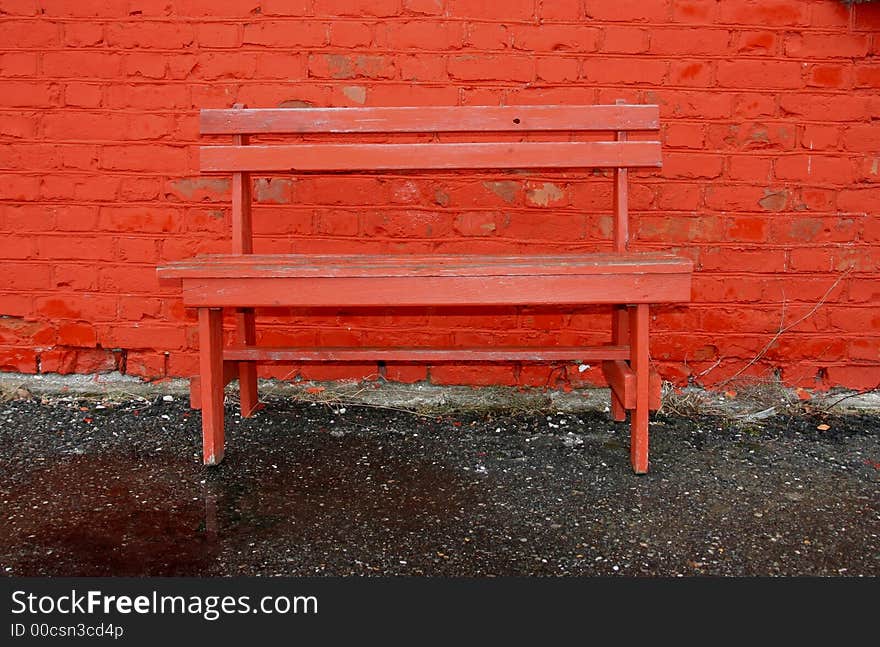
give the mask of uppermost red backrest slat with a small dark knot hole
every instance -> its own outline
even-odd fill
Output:
[[[201,132],[205,135],[657,130],[659,127],[660,109],[656,105],[258,108],[201,112]]]

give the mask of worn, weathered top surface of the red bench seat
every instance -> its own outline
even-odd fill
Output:
[[[224,254],[176,261],[158,269],[163,279],[595,276],[692,271],[690,259],[662,253],[536,256]]]

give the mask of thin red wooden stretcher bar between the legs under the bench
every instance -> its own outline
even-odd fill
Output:
[[[628,346],[570,348],[271,348],[233,345],[225,360],[288,362],[555,362],[629,358]]]

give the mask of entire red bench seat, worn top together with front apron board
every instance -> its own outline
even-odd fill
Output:
[[[194,307],[669,303],[693,263],[672,254],[211,255],[159,268]]]

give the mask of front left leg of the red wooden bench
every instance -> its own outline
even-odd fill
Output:
[[[223,310],[199,308],[199,372],[202,456],[205,465],[223,460]]]

